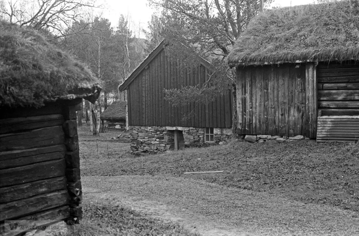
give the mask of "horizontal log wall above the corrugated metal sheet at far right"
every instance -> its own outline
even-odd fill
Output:
[[[322,63],[317,77],[322,115],[359,115],[359,63]]]

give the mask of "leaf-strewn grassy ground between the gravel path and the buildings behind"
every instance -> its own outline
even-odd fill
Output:
[[[267,191],[303,203],[329,204],[359,211],[358,143],[303,140],[251,144],[233,141],[222,146],[135,157],[128,153],[130,144],[126,138],[111,139],[118,134],[112,130],[94,138],[87,129],[79,129],[83,176],[170,174]],[[183,174],[211,170],[224,172]]]

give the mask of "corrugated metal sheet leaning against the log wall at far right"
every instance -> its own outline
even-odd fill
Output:
[[[359,140],[359,116],[320,116],[317,142],[355,142]]]

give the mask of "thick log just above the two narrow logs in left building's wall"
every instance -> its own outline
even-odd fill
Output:
[[[45,147],[64,142],[65,134],[62,126],[53,126],[16,134],[1,134],[0,151]]]

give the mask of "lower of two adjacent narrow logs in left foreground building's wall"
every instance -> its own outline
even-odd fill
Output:
[[[51,153],[44,153],[30,157],[20,157],[20,158],[8,159],[8,160],[0,160],[0,170],[6,168],[14,168],[18,166],[31,165],[39,162],[58,160],[62,158],[65,158],[65,152],[51,152]]]

